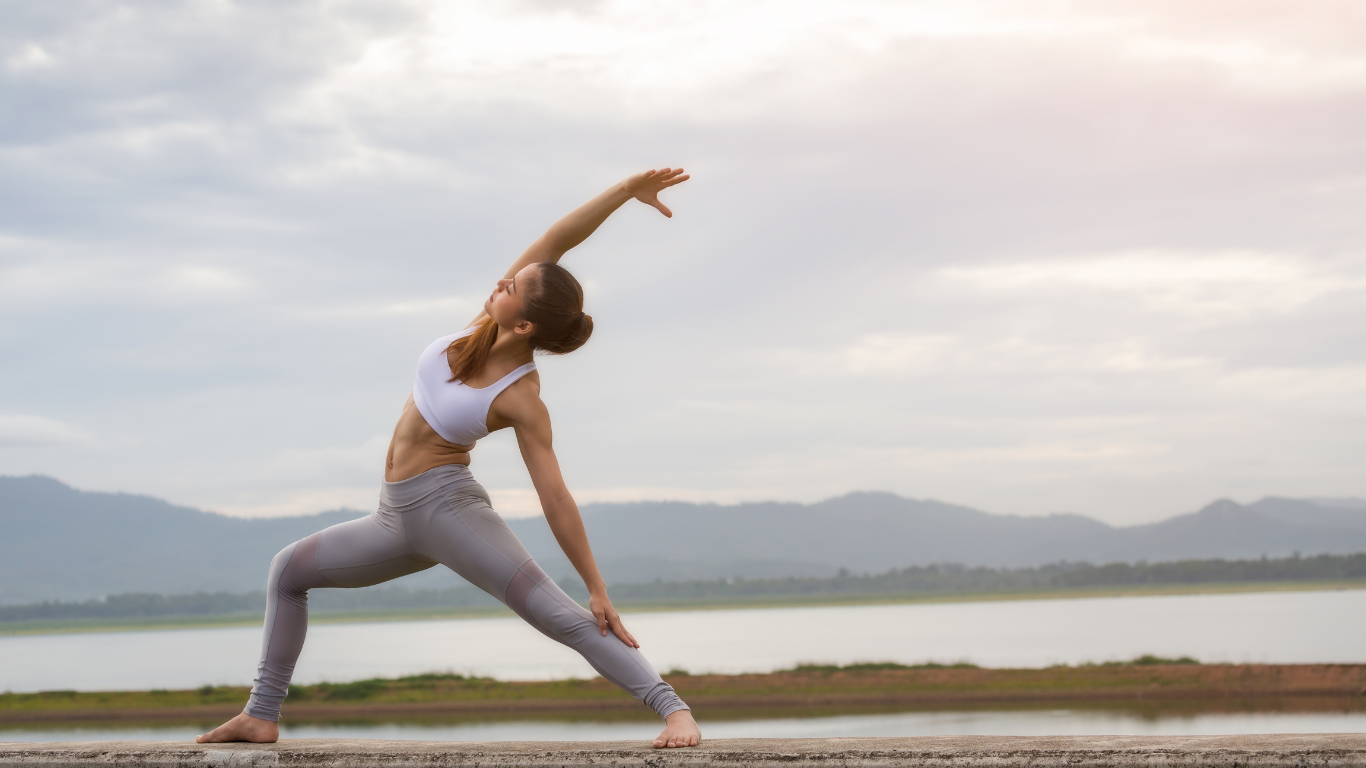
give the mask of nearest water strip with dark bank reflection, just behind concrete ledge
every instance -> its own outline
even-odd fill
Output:
[[[1363,697],[1193,700],[1161,704],[877,711],[840,708],[794,712],[698,712],[709,738],[836,738],[929,735],[1221,735],[1328,734],[1366,731]],[[800,716],[799,716],[800,715]],[[191,741],[217,723],[94,723],[0,728],[0,741]],[[658,732],[647,712],[505,719],[426,716],[402,722],[290,722],[283,738],[414,741],[639,741]]]

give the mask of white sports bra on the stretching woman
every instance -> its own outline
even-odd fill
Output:
[[[493,399],[518,379],[535,370],[535,364],[529,362],[481,389],[466,387],[460,381],[448,381],[451,364],[447,362],[445,348],[451,342],[469,336],[475,329],[478,325],[441,336],[428,344],[418,358],[418,377],[413,384],[413,403],[418,406],[418,413],[437,435],[456,445],[470,445],[475,440],[488,437],[489,406],[493,404]]]

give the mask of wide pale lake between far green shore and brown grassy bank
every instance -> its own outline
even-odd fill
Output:
[[[772,671],[803,661],[867,660],[1042,667],[1142,653],[1203,661],[1366,663],[1366,590],[686,611],[626,619],[661,671]],[[260,642],[260,630],[249,627],[0,637],[0,690],[249,685]],[[429,671],[505,681],[594,675],[578,655],[520,619],[497,618],[318,625],[309,630],[295,681]],[[936,727],[917,719],[928,715],[876,717],[910,717],[895,720],[907,728]],[[893,720],[877,720],[884,723],[878,727],[892,728],[887,723]],[[861,728],[862,722],[855,717],[847,727]],[[831,723],[846,727],[839,724],[844,719]],[[982,727],[1011,727],[1007,720],[993,723]]]

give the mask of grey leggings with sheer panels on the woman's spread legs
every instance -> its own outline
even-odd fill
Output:
[[[470,469],[447,465],[385,482],[380,508],[285,547],[270,562],[265,640],[246,713],[280,719],[309,629],[309,589],[370,586],[441,563],[497,597],[660,717],[687,705],[639,650],[608,631],[535,564]]]

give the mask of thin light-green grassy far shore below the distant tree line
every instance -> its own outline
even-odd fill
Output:
[[[866,593],[866,594],[790,594],[790,596],[743,596],[743,597],[702,597],[672,600],[615,600],[623,612],[649,611],[723,611],[744,608],[798,608],[822,605],[897,605],[908,603],[989,603],[1005,600],[1070,600],[1087,597],[1142,597],[1161,594],[1232,594],[1261,592],[1320,592],[1329,589],[1366,589],[1366,579],[1332,581],[1270,581],[1270,582],[1227,582],[1227,584],[1186,584],[1186,585],[1120,585],[1086,586],[1075,589],[1034,589],[1034,590],[990,590],[990,592],[949,592],[949,593]],[[369,623],[369,622],[410,622],[434,619],[466,619],[512,616],[507,608],[464,607],[464,608],[400,608],[393,611],[314,611],[314,623]],[[10,634],[59,634],[90,631],[146,631],[201,627],[246,627],[260,626],[261,614],[221,614],[195,616],[128,616],[90,619],[36,619],[0,622],[0,635]]]

